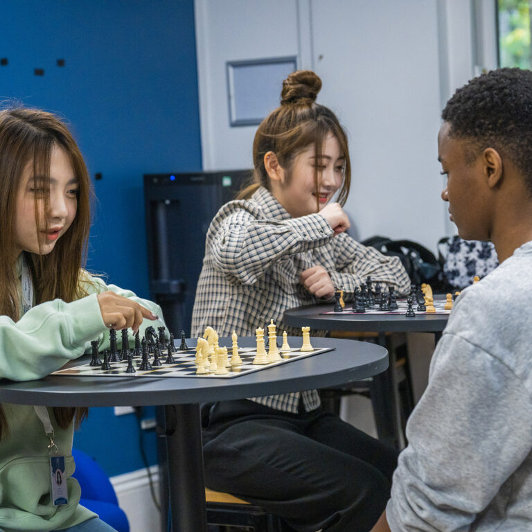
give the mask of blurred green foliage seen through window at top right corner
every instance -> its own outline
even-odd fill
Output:
[[[498,0],[501,67],[531,68],[531,8],[532,0]]]

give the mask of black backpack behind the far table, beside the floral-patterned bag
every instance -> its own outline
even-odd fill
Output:
[[[372,236],[361,242],[371,246],[383,255],[396,256],[407,270],[411,283],[428,283],[434,292],[445,291],[441,261],[427,249],[413,240],[391,240],[387,236]]]

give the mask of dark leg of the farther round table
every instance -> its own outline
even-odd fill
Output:
[[[378,344],[387,348],[384,332],[379,332]],[[388,369],[373,377],[371,402],[375,410],[375,425],[377,425],[379,439],[399,449],[400,430],[397,416],[393,355],[391,351],[388,351],[388,360]]]

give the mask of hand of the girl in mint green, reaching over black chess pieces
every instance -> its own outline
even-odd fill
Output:
[[[132,328],[139,330],[144,318],[157,319],[157,316],[136,301],[119,296],[110,290],[98,294],[98,305],[102,313],[103,323],[112,329]]]

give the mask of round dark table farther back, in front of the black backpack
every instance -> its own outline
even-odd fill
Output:
[[[435,294],[435,299],[445,299]],[[351,305],[351,303],[348,303]],[[290,308],[283,314],[283,323],[291,327],[310,326],[315,330],[342,330],[377,332],[378,343],[386,346],[387,332],[433,332],[435,343],[447,325],[449,314],[421,314],[414,317],[405,314],[323,314],[334,308],[332,304],[307,305]],[[415,305],[414,305],[415,312]],[[373,380],[372,402],[379,438],[400,447],[401,432],[397,416],[393,364]],[[375,397],[374,397],[375,396]]]

